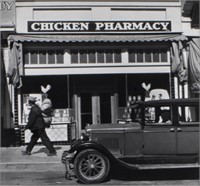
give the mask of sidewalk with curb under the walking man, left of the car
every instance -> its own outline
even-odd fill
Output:
[[[55,145],[54,147],[57,151],[56,156],[47,156],[48,150],[45,146],[35,146],[30,156],[21,153],[26,146],[0,147],[0,170],[1,172],[64,171],[61,156],[69,146]]]

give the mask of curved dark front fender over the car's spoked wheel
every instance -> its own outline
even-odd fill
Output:
[[[101,152],[103,155],[105,155],[109,161],[112,163],[117,163],[120,166],[131,168],[131,169],[139,169],[138,165],[128,164],[126,162],[123,162],[116,158],[106,147],[104,147],[102,144],[97,143],[96,141],[80,141],[76,145],[72,146],[69,153],[74,153],[73,160],[76,158],[76,156],[83,150],[86,149],[95,149],[99,152]]]

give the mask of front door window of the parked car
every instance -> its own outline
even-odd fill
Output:
[[[146,125],[171,125],[171,109],[169,106],[154,106],[145,108]]]

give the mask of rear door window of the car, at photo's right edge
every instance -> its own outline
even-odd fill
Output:
[[[198,106],[179,106],[179,124],[195,125],[199,124],[199,107]]]

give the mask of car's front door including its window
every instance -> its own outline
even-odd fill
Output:
[[[161,113],[165,112],[169,114],[169,121],[161,118]],[[145,108],[144,155],[176,154],[176,126],[171,120],[171,114],[170,106]]]

